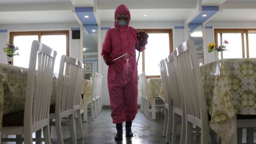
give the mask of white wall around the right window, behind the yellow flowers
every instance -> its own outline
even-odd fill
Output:
[[[214,43],[214,29],[255,29],[256,21],[209,21],[205,26],[212,26],[212,29],[205,29],[204,63],[213,61],[212,53],[208,53],[206,47]]]

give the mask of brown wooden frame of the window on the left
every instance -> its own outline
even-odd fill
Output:
[[[14,32],[10,32],[10,44],[13,44],[14,36],[28,36],[28,35],[37,35],[39,42],[41,42],[42,35],[66,35],[66,55],[69,56],[69,30],[14,31]]]

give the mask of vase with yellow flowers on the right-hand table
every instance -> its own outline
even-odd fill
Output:
[[[219,52],[227,51],[227,45],[228,41],[224,41],[223,44],[219,45],[219,47],[216,47],[215,43],[210,43],[207,47],[208,52],[213,53],[213,59],[214,61],[218,60],[219,58]]]

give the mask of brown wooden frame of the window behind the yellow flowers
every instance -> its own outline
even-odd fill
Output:
[[[245,58],[245,43],[246,43],[246,58],[249,58],[249,32],[251,31],[256,31],[256,29],[214,29],[214,42],[218,45],[218,33],[220,33],[221,37],[220,37],[220,43],[222,43],[222,33],[241,33],[241,37],[242,37],[242,55],[243,58]],[[246,38],[246,41],[244,42],[244,35]],[[221,58],[223,58],[223,54],[221,52]]]

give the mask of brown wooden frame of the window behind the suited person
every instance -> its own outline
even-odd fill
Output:
[[[145,31],[147,34],[169,34],[169,52],[173,52],[173,30],[172,29],[137,29],[138,31]],[[145,51],[142,52],[142,71],[145,71]],[[146,76],[147,78],[160,78],[160,75]]]

